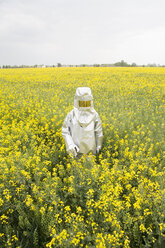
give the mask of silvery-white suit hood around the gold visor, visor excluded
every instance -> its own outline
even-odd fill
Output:
[[[91,101],[90,107],[79,107],[79,101]],[[89,87],[78,87],[74,98],[74,113],[80,126],[87,126],[95,118],[93,96]]]

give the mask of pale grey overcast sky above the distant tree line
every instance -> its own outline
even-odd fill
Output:
[[[165,0],[0,0],[0,65],[165,64]]]

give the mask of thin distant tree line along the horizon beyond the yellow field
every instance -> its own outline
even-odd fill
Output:
[[[80,64],[80,65],[63,65],[61,63],[57,63],[56,65],[3,65],[0,68],[46,68],[46,67],[165,67],[165,65],[159,65],[156,63],[147,64],[147,65],[137,65],[136,63],[128,64],[124,60],[120,62],[116,62],[114,64]]]

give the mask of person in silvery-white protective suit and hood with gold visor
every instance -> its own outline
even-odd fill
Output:
[[[100,152],[103,141],[102,123],[93,107],[93,96],[89,87],[77,88],[74,108],[64,120],[62,136],[67,153],[75,158],[90,152]]]

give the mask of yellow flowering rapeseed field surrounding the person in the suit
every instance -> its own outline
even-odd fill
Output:
[[[0,70],[0,247],[165,247],[165,68]],[[66,154],[77,87],[99,155]]]

